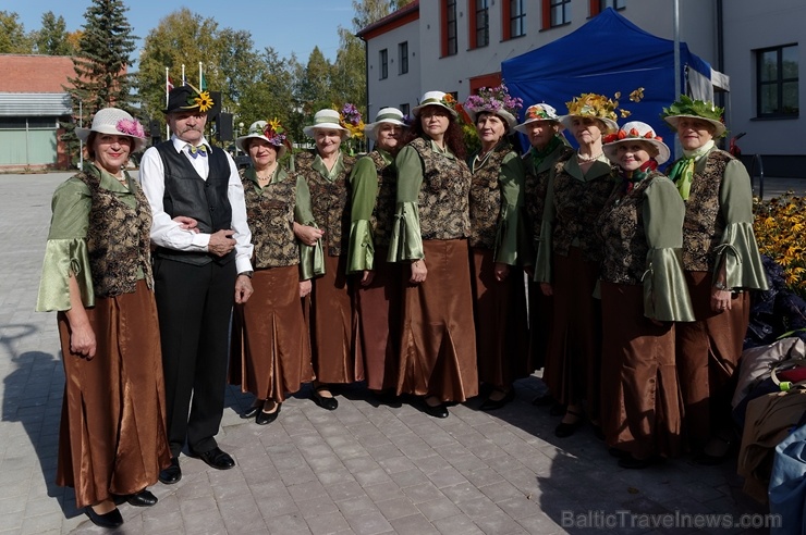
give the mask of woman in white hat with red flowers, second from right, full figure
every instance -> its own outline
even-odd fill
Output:
[[[602,147],[619,186],[599,216],[601,424],[619,465],[643,469],[681,448],[682,405],[674,322],[694,320],[683,276],[683,214],[674,184],[657,171],[669,147],[633,121]]]

